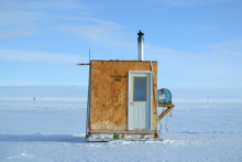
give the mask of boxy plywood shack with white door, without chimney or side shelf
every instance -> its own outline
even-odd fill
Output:
[[[157,62],[90,61],[87,140],[156,138]]]

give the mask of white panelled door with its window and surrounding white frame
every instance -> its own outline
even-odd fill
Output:
[[[128,130],[151,130],[152,72],[129,71]]]

